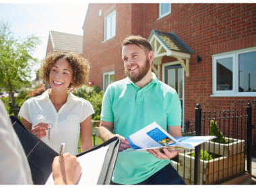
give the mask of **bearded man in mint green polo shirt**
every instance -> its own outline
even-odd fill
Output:
[[[152,73],[154,52],[141,36],[129,36],[122,44],[126,79],[108,85],[102,102],[100,138],[122,140],[119,151],[131,148],[127,136],[156,122],[174,137],[181,136],[181,103],[172,87]],[[113,185],[185,185],[170,158],[177,151],[120,153]]]

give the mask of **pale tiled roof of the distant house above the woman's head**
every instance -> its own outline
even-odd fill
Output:
[[[83,36],[50,31],[53,51],[83,53]]]

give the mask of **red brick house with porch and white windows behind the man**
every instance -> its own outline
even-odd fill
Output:
[[[195,124],[196,103],[256,99],[256,3],[90,3],[82,29],[90,82],[103,90],[125,78],[121,42],[133,34],[151,42],[152,71],[177,90],[183,122]]]

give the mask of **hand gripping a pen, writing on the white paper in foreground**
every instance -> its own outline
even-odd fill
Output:
[[[55,185],[76,185],[82,173],[82,167],[76,156],[69,153],[63,154],[61,162],[59,156],[53,160],[53,179]]]

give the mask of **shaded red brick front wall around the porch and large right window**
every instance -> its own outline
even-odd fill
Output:
[[[205,111],[227,109],[234,101],[256,97],[210,97],[212,54],[256,46],[256,3],[172,3],[170,15],[158,19],[159,3],[145,3],[144,37],[152,29],[174,32],[193,50],[185,77],[185,120],[195,124],[195,105]],[[158,19],[158,20],[157,20]],[[201,62],[196,62],[196,57]],[[162,58],[162,63],[174,61]],[[170,61],[169,61],[170,60]],[[162,73],[162,70],[161,70]],[[162,76],[161,76],[162,79]]]

